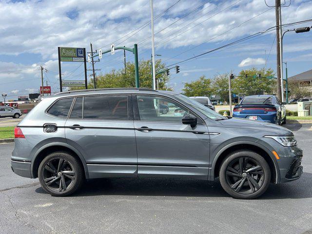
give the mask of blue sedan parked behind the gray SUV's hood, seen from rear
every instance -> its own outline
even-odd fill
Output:
[[[233,117],[265,121],[281,125],[286,123],[286,102],[273,95],[254,95],[243,98],[234,106]]]

